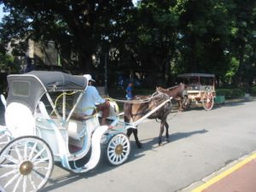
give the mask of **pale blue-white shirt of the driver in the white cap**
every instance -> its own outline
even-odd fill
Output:
[[[102,99],[96,87],[89,85],[75,109],[75,113],[91,115],[96,105],[103,102],[105,102],[105,100]]]

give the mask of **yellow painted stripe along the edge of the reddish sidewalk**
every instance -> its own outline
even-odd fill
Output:
[[[230,173],[235,172],[237,169],[239,169],[241,166],[246,165],[248,162],[250,162],[251,160],[256,159],[256,153],[252,154],[250,156],[248,156],[245,160],[241,160],[241,162],[237,163],[235,166],[230,167],[230,169],[228,169],[225,172],[222,172],[220,174],[218,174],[216,177],[213,177],[212,179],[210,179],[209,181],[207,181],[206,183],[201,184],[199,187],[193,189],[191,192],[201,192],[204,189],[207,189],[208,187],[210,187],[213,183],[218,182],[220,179],[226,177],[227,175],[230,175]]]

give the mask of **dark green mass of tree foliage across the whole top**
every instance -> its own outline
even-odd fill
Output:
[[[54,40],[64,67],[79,72],[102,73],[108,52],[111,81],[119,71],[154,72],[152,86],[193,72],[222,84],[255,81],[255,0],[2,2],[1,49],[11,43],[14,55],[25,55],[29,38]]]

